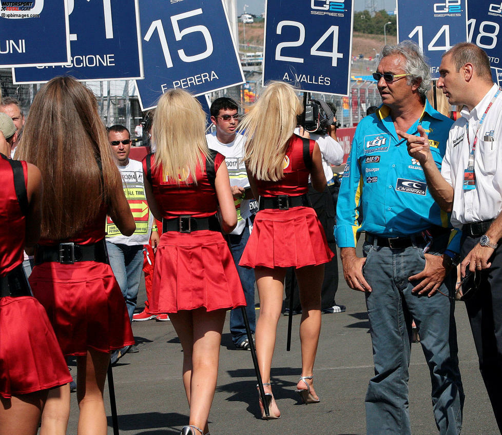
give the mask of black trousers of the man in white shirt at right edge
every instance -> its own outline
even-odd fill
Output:
[[[479,237],[464,235],[464,258],[479,242]],[[479,370],[492,404],[498,429],[502,432],[502,247],[490,258],[491,267],[481,272],[481,284],[466,301],[472,336],[479,358]]]

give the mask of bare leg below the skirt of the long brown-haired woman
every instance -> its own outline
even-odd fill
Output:
[[[103,389],[110,354],[87,350],[87,355],[77,357],[76,398],[80,416],[77,433],[79,435],[106,435],[106,421]]]

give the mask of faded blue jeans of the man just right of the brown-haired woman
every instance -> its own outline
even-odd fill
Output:
[[[106,242],[106,249],[111,270],[124,295],[129,320],[132,322],[143,268],[143,245],[128,246]]]

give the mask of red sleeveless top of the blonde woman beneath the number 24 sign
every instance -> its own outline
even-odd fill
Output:
[[[308,141],[308,154],[312,153],[316,142]],[[303,159],[303,140],[297,135],[291,136],[284,157],[284,177],[279,181],[257,180],[255,182],[260,196],[291,195],[299,196],[308,192],[310,169]]]

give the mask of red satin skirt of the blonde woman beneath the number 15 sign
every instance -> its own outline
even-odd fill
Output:
[[[208,230],[162,234],[155,256],[151,295],[152,314],[246,305],[225,239],[221,233]]]

